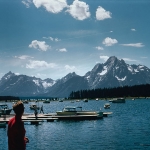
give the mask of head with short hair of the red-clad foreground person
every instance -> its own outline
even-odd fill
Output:
[[[18,101],[13,105],[13,110],[16,115],[22,115],[24,113],[24,105],[22,101]]]

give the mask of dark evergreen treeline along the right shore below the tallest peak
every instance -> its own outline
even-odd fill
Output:
[[[70,99],[150,97],[150,84],[72,91]]]

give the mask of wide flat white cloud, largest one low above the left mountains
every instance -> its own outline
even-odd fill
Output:
[[[55,63],[47,63],[46,61],[30,60],[26,64],[28,69],[45,69],[45,68],[55,68],[57,65]]]

